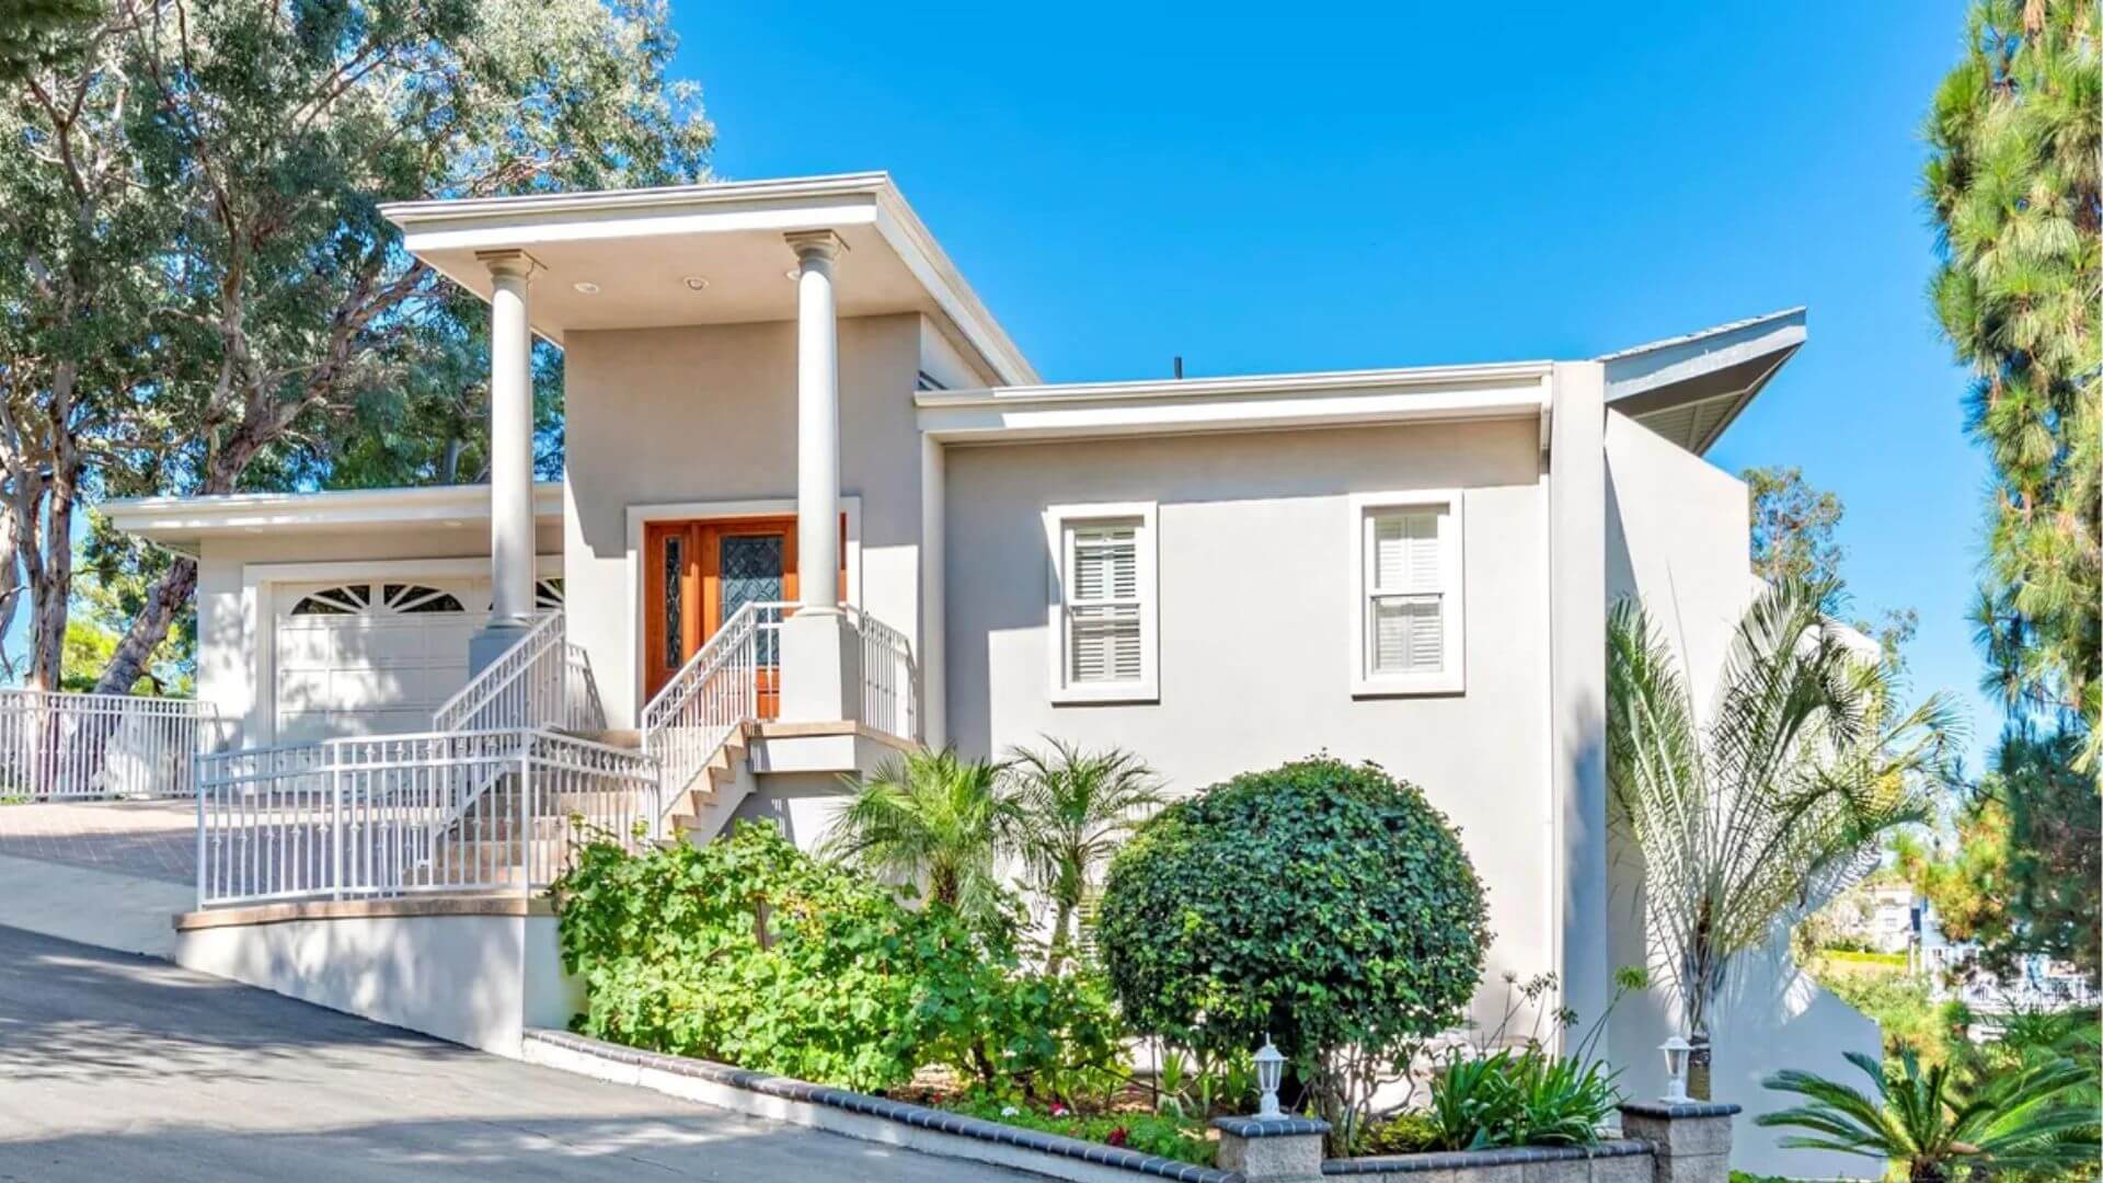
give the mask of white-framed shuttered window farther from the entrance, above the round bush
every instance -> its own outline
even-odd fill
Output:
[[[1352,497],[1354,695],[1464,690],[1459,493]]]

